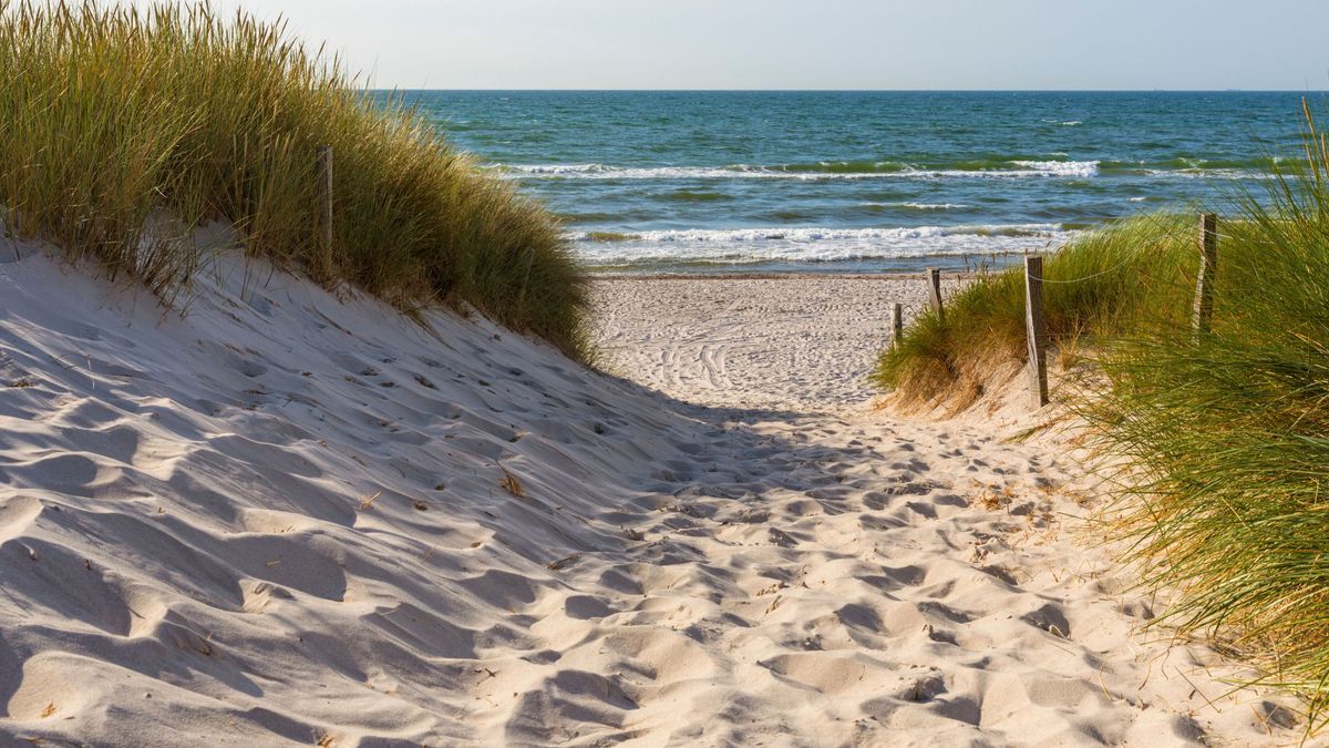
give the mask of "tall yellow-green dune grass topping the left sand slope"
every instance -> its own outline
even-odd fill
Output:
[[[585,281],[558,222],[400,100],[375,101],[283,23],[206,4],[0,0],[0,218],[163,299],[207,262],[197,228],[404,310],[466,301],[571,354]],[[334,150],[334,238],[315,153]]]

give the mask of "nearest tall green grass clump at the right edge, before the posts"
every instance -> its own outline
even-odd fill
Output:
[[[1181,592],[1167,622],[1228,638],[1271,681],[1329,705],[1329,149],[1221,232],[1211,334],[1155,325],[1099,355],[1079,410],[1130,458],[1115,518],[1148,582]],[[1316,716],[1318,715],[1318,720]]]

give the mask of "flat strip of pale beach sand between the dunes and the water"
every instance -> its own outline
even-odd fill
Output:
[[[944,291],[958,287],[946,278]],[[707,405],[836,410],[872,398],[890,307],[926,302],[921,277],[614,278],[597,282],[607,366]],[[779,341],[779,345],[772,345]]]

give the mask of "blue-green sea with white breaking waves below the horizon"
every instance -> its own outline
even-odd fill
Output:
[[[961,268],[1213,200],[1301,93],[407,92],[597,269]],[[1316,105],[1320,100],[1314,98]]]

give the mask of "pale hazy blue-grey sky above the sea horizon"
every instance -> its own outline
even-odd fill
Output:
[[[1329,88],[1329,0],[213,4],[284,16],[377,88]]]

